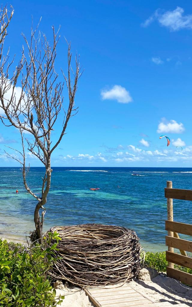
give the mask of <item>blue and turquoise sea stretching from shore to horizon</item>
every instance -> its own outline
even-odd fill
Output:
[[[28,185],[40,196],[43,175],[43,168],[34,167],[27,175]],[[174,188],[191,189],[192,168],[53,167],[44,230],[83,223],[119,225],[134,229],[145,250],[163,251],[168,180]],[[0,236],[25,240],[34,228],[37,201],[26,193],[20,168],[0,168],[0,201]],[[192,223],[190,201],[174,200],[174,220]]]

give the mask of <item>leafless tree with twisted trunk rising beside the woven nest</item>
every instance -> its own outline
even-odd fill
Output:
[[[4,114],[0,115],[0,118],[5,126],[14,126],[19,130],[22,147],[22,150],[17,150],[16,154],[13,155],[6,151],[6,155],[22,165],[25,189],[38,201],[34,211],[34,223],[36,238],[39,239],[40,243],[42,242],[45,211],[42,211],[40,218],[39,210],[40,208],[45,209],[43,206],[46,204],[51,186],[51,154],[66,133],[69,119],[77,113],[75,94],[78,80],[82,74],[77,55],[75,69],[73,70],[71,67],[71,46],[67,42],[68,72],[67,76],[65,76],[61,70],[63,81],[58,81],[58,74],[55,72],[54,66],[57,56],[56,47],[60,37],[58,32],[55,32],[54,27],[52,29],[52,45],[50,45],[45,34],[37,33],[38,27],[33,30],[32,26],[30,40],[22,34],[26,52],[23,47],[21,58],[11,77],[9,72],[13,60],[9,63],[9,52],[5,56],[3,53],[5,35],[2,36],[0,48],[0,107],[4,112]],[[18,84],[21,87],[19,98],[15,94],[15,88]],[[64,106],[64,84],[67,86],[69,96],[67,108]],[[54,130],[56,121],[61,120],[58,119],[58,116],[62,112],[62,129],[58,135],[57,142],[53,144],[51,133]],[[25,133],[30,133],[33,136],[33,142],[25,138]],[[45,166],[45,175],[42,177],[41,198],[33,193],[26,181],[26,173],[29,171],[29,167],[25,165],[25,145],[27,145],[29,152],[36,156]]]

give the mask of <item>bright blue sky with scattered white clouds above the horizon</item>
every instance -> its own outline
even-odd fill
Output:
[[[31,16],[51,39],[61,25],[56,70],[67,46],[80,53],[79,112],[52,156],[52,166],[192,167],[191,1],[12,1],[6,47],[16,60]],[[19,86],[19,84],[18,84]],[[67,96],[66,96],[67,99]],[[62,122],[53,133],[56,140]],[[165,134],[171,143],[167,147]],[[19,134],[0,124],[0,153],[19,148]],[[181,151],[180,147],[183,150]],[[32,166],[41,163],[28,155]],[[0,156],[0,166],[18,166]]]

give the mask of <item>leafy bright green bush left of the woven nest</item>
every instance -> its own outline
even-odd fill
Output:
[[[0,307],[61,304],[64,297],[55,299],[56,290],[52,291],[47,276],[56,260],[54,250],[58,250],[57,243],[50,246],[51,239],[58,243],[60,238],[56,232],[49,233],[43,246],[28,248],[0,239]]]

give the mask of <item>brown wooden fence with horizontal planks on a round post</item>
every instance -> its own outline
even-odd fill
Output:
[[[167,221],[165,221],[166,236],[166,259],[168,261],[167,276],[192,286],[192,274],[182,272],[174,268],[174,264],[192,269],[192,258],[187,256],[186,251],[192,253],[192,241],[179,238],[178,233],[192,236],[192,225],[173,221],[173,199],[192,200],[192,190],[173,189],[172,181],[167,181],[165,188],[167,198]],[[174,248],[180,250],[181,255],[174,253]]]

